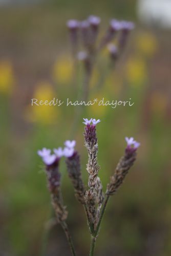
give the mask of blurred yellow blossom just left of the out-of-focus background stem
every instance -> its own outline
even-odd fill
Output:
[[[54,81],[62,84],[70,83],[73,78],[73,63],[69,56],[61,55],[56,59],[52,76]]]

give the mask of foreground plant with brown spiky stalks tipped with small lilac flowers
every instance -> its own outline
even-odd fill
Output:
[[[137,148],[140,145],[140,143],[135,141],[133,137],[125,138],[127,145],[124,155],[119,160],[104,193],[102,183],[98,177],[100,166],[97,160],[98,140],[96,125],[99,122],[99,119],[83,119],[83,123],[85,124],[83,133],[84,145],[88,151],[88,188],[86,188],[82,180],[80,156],[78,151],[75,150],[75,140],[66,140],[64,143],[65,147],[63,149],[61,147],[58,147],[57,149],[54,148],[53,154],[51,154],[51,150],[47,148],[42,148],[42,150],[37,152],[45,163],[48,187],[51,194],[52,205],[56,214],[56,220],[65,231],[72,255],[76,255],[76,252],[66,223],[68,211],[66,210],[66,206],[63,204],[62,200],[61,175],[59,172],[59,162],[61,157],[65,157],[66,159],[68,175],[73,184],[75,196],[85,209],[88,227],[91,234],[90,255],[94,255],[95,242],[98,237],[101,220],[108,200],[116,193],[117,189],[123,183],[126,174],[129,172],[129,169],[136,160]]]

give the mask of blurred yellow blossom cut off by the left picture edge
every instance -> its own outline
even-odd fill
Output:
[[[9,60],[0,61],[0,92],[10,94],[15,79],[13,75],[12,65]]]

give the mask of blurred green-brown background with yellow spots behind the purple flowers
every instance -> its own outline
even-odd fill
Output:
[[[32,2],[32,3],[31,3]],[[169,256],[171,254],[170,30],[144,26],[135,0],[34,1],[0,6],[0,255],[38,255],[51,204],[37,150],[77,140],[87,182],[83,117],[98,124],[99,176],[104,189],[124,152],[125,136],[140,141],[138,159],[105,212],[95,255]],[[129,98],[134,106],[84,109],[74,138],[74,107],[31,106],[31,98],[74,98],[73,65],[66,21],[102,19],[101,34],[113,17],[136,23],[115,70],[108,72],[108,52],[94,69],[94,84],[106,74],[100,91],[89,98]],[[81,84],[81,63],[76,83]],[[65,164],[62,192],[78,255],[88,255],[90,235],[74,197]],[[52,228],[46,255],[70,255],[60,226]]]

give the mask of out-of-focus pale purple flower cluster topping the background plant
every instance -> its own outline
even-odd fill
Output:
[[[98,39],[98,32],[101,19],[97,16],[89,16],[86,20],[78,21],[75,19],[68,20],[67,27],[69,28],[71,35],[72,46],[78,51],[78,42],[82,42],[84,51],[78,54],[78,58],[81,60],[92,58],[95,52],[98,52],[103,47],[107,46],[118,34],[117,47],[111,45],[108,47],[111,57],[118,56],[118,51],[121,51],[126,44],[127,36],[129,32],[134,29],[134,23],[126,20],[112,19],[109,23],[109,27],[104,33],[101,39]],[[80,38],[79,38],[80,36]]]

